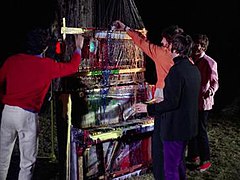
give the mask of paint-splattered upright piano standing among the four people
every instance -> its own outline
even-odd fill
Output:
[[[133,108],[152,97],[144,72],[144,54],[125,32],[86,38],[79,72],[54,84],[57,118],[70,122],[68,177],[124,179],[149,170],[153,119]]]

